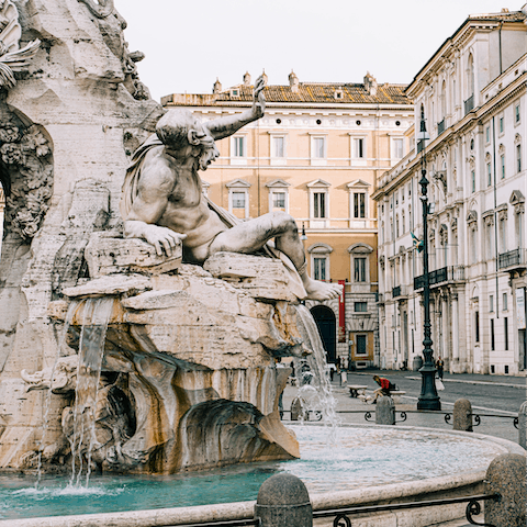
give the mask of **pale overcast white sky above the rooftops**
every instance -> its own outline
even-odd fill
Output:
[[[253,81],[408,83],[468,14],[527,0],[115,0],[139,77],[159,100]]]

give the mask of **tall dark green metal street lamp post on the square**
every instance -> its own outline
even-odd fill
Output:
[[[423,340],[423,356],[425,362],[421,368],[422,383],[421,394],[417,401],[417,410],[441,410],[441,402],[436,390],[436,366],[434,363],[434,350],[431,349],[431,323],[430,323],[430,276],[428,273],[428,184],[426,179],[426,156],[425,156],[425,141],[429,139],[426,132],[425,116],[421,115],[421,131],[416,137],[422,141],[423,157],[422,157],[422,170],[421,170],[421,201],[423,203],[423,303],[425,307],[424,316],[424,340]]]

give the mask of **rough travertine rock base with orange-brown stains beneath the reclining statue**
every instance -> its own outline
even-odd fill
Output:
[[[299,457],[278,401],[290,373],[274,357],[307,349],[280,261],[221,253],[204,268],[159,258],[148,244],[92,235],[91,277],[64,293],[80,302],[69,346],[87,324],[88,302],[114,298],[102,357],[91,461],[108,471],[172,473]],[[131,272],[135,270],[136,272]],[[209,270],[208,270],[209,269]],[[51,304],[55,321],[68,302]],[[90,307],[92,309],[92,307]],[[23,372],[30,389],[71,397],[77,355],[52,371]],[[74,434],[63,412],[64,438]]]

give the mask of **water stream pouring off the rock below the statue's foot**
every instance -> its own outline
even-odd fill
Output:
[[[303,411],[322,412],[322,421],[326,426],[332,427],[332,441],[335,441],[339,419],[336,414],[337,402],[332,394],[332,385],[326,374],[324,345],[318,327],[307,307],[299,304],[296,312],[305,329],[305,345],[311,347],[312,351],[304,359],[294,361],[298,396],[303,404]]]

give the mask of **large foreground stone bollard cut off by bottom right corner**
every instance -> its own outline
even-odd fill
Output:
[[[527,458],[518,453],[503,453],[486,471],[487,492],[500,494],[500,500],[485,501],[485,524],[495,527],[525,527],[527,525]]]

